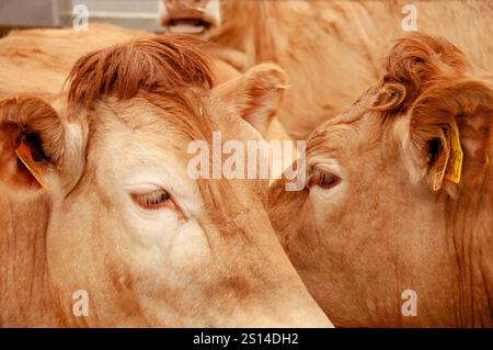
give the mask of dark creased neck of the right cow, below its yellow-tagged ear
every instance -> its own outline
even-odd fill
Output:
[[[490,155],[490,158],[492,155]],[[493,170],[447,205],[447,247],[458,271],[457,323],[493,327]]]

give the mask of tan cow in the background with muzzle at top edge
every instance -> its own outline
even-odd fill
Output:
[[[210,39],[209,50],[241,71],[262,61],[287,71],[291,89],[278,117],[296,139],[374,83],[381,55],[404,31],[445,36],[493,70],[489,1],[161,1],[168,31]]]

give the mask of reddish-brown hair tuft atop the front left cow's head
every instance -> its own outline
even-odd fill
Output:
[[[106,94],[130,99],[140,89],[210,89],[213,75],[199,50],[203,44],[187,35],[167,35],[89,54],[70,72],[69,102],[88,106]]]

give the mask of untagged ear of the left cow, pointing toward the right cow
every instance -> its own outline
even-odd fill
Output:
[[[215,91],[265,137],[283,101],[286,80],[286,74],[278,66],[261,64],[218,86]]]

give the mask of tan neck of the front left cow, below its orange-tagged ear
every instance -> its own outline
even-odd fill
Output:
[[[48,199],[0,199],[0,326],[56,326],[46,259]]]

